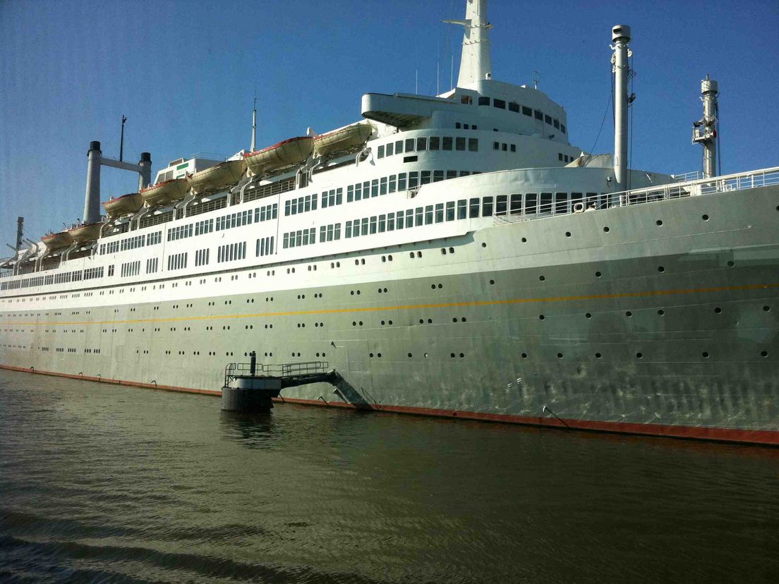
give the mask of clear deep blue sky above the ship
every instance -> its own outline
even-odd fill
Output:
[[[464,0],[375,2],[33,2],[0,0],[0,245],[16,216],[26,236],[80,217],[86,150],[102,142],[153,172],[199,151],[258,146],[360,118],[368,92],[449,88],[460,58]],[[700,79],[721,89],[723,170],[779,165],[779,2],[515,2],[492,0],[492,72],[532,83],[566,107],[571,142],[590,150],[610,92],[610,30],[633,27],[637,76],[632,166],[700,168],[690,143]],[[607,117],[595,152],[612,150]],[[136,176],[104,168],[102,199]],[[3,245],[3,248],[5,246]],[[5,252],[0,256],[6,255]]]

